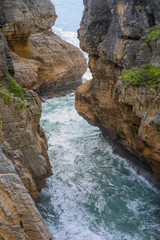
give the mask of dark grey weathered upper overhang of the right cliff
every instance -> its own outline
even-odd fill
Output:
[[[151,59],[145,44],[149,27],[160,22],[158,1],[84,1],[79,30],[81,48],[129,68]],[[156,52],[156,51],[155,51]]]

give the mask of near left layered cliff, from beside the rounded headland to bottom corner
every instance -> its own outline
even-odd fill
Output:
[[[52,174],[40,127],[41,102],[33,91],[22,100],[9,91],[14,68],[0,33],[0,239],[51,240],[34,200]]]

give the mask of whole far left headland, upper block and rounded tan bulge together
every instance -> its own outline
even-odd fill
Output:
[[[82,83],[86,60],[51,31],[57,16],[50,0],[4,0],[1,6],[16,81],[48,97],[75,90]]]

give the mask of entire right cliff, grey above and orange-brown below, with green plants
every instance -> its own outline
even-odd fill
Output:
[[[76,109],[160,179],[159,1],[84,5],[79,39],[93,79],[78,88]]]

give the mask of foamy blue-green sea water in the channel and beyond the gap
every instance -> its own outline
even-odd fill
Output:
[[[77,46],[82,0],[53,3],[53,31]],[[54,239],[160,240],[160,192],[77,114],[73,93],[42,105],[53,176],[37,207]]]

